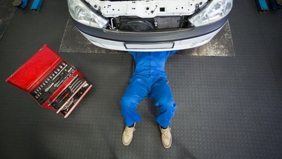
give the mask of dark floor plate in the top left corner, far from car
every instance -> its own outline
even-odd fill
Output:
[[[12,1],[10,0],[0,1],[0,40],[2,39],[16,11],[17,8],[12,5]]]

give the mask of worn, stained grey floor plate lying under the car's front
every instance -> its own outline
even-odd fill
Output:
[[[70,17],[64,37],[61,40],[59,52],[126,53],[125,51],[104,49],[93,45],[79,32]],[[180,50],[180,53],[201,56],[235,56],[229,21],[209,43],[197,48]]]

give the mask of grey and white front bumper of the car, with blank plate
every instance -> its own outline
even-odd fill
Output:
[[[155,33],[129,33],[95,28],[73,19],[75,26],[91,43],[123,51],[169,51],[198,47],[208,43],[221,30],[228,16],[214,23],[185,30]]]

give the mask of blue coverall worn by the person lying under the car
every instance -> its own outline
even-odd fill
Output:
[[[168,85],[165,63],[175,52],[177,51],[129,52],[134,58],[136,67],[130,84],[120,100],[121,114],[127,126],[141,121],[137,106],[147,96],[160,108],[160,113],[155,116],[156,122],[163,128],[170,125],[177,105]]]

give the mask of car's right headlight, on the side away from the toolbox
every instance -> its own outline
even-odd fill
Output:
[[[190,18],[194,26],[201,26],[227,16],[233,6],[233,0],[212,0],[202,11]]]

